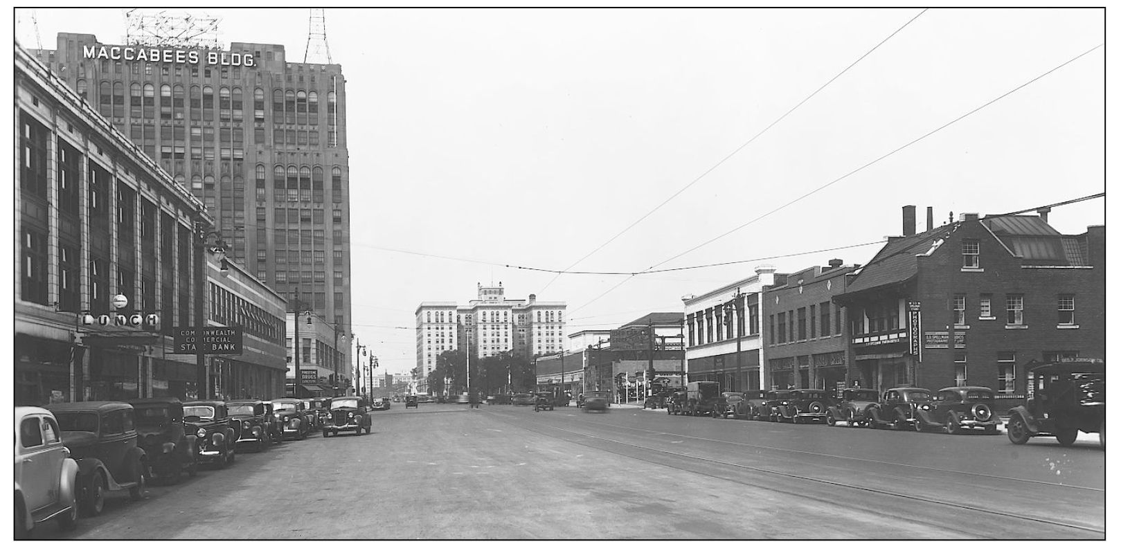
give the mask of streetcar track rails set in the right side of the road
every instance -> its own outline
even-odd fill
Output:
[[[503,417],[507,418],[508,421],[512,419],[512,417],[508,416],[508,415],[503,416]],[[1105,531],[1103,528],[1100,529],[1100,528],[1095,528],[1095,527],[1088,527],[1088,526],[1084,526],[1084,525],[1077,525],[1077,524],[1074,524],[1074,523],[1062,522],[1062,520],[1057,520],[1057,519],[1044,519],[1044,518],[1023,516],[1023,515],[1019,515],[1019,514],[1010,513],[1010,511],[1000,511],[1000,510],[994,510],[994,509],[985,509],[985,508],[981,508],[981,507],[974,507],[974,506],[969,506],[969,505],[963,505],[963,504],[957,504],[957,502],[951,502],[951,501],[946,501],[946,500],[930,499],[930,498],[924,498],[924,497],[916,497],[916,496],[911,496],[911,495],[905,495],[905,494],[895,492],[895,491],[886,491],[886,490],[881,490],[881,489],[873,489],[873,488],[858,486],[858,485],[853,485],[853,483],[842,483],[842,482],[826,480],[826,479],[823,479],[823,478],[816,478],[816,477],[812,477],[812,476],[791,474],[791,473],[781,472],[781,471],[778,471],[778,470],[762,469],[762,468],[758,468],[758,467],[749,467],[749,465],[741,464],[741,463],[735,463],[735,462],[731,462],[731,461],[723,461],[723,460],[719,460],[719,459],[710,459],[710,458],[705,458],[705,457],[701,457],[701,455],[694,455],[694,454],[691,454],[691,453],[679,453],[679,452],[671,452],[671,451],[658,450],[658,449],[650,448],[650,446],[645,446],[645,445],[641,445],[641,444],[629,443],[629,442],[624,442],[624,441],[620,441],[620,440],[614,440],[614,439],[606,439],[606,437],[603,437],[603,436],[596,436],[596,435],[593,435],[593,434],[587,434],[587,433],[582,433],[582,432],[578,432],[578,431],[573,431],[573,430],[568,430],[568,428],[558,427],[558,426],[555,426],[555,425],[548,425],[548,424],[545,424],[545,425],[537,424],[537,425],[538,426],[545,426],[545,427],[548,427],[548,428],[553,428],[553,430],[559,431],[562,433],[568,433],[568,434],[574,434],[576,436],[583,436],[583,437],[586,437],[586,439],[599,440],[599,441],[603,441],[603,442],[610,442],[610,443],[622,445],[622,446],[627,446],[627,448],[634,448],[634,449],[638,449],[638,450],[646,450],[646,451],[650,451],[650,452],[655,452],[655,453],[659,453],[659,454],[664,454],[664,455],[674,455],[674,457],[679,457],[679,458],[689,459],[689,460],[694,460],[694,461],[705,461],[705,462],[710,462],[710,463],[713,463],[713,464],[722,464],[722,465],[728,465],[728,467],[734,467],[734,468],[738,468],[738,469],[750,470],[750,471],[753,471],[753,472],[761,472],[761,473],[766,473],[766,474],[770,474],[770,476],[778,476],[778,477],[791,478],[791,479],[797,479],[797,480],[803,480],[803,481],[809,481],[809,482],[815,482],[815,483],[825,483],[825,485],[835,486],[835,487],[840,487],[840,488],[844,488],[844,489],[851,489],[851,490],[855,490],[855,491],[863,491],[863,492],[871,494],[871,495],[881,495],[881,496],[887,496],[887,497],[895,497],[895,498],[900,498],[900,499],[912,500],[912,501],[917,501],[917,502],[926,502],[926,504],[932,504],[932,505],[936,505],[936,506],[941,506],[941,507],[956,508],[956,509],[967,510],[967,511],[971,511],[971,513],[984,514],[984,515],[989,515],[989,516],[1009,517],[1009,518],[1013,518],[1013,519],[1020,519],[1020,520],[1025,520],[1025,522],[1034,522],[1034,523],[1039,523],[1039,524],[1044,524],[1044,525],[1053,525],[1053,526],[1057,526],[1057,527],[1067,527],[1067,528],[1086,531],[1086,532],[1090,532],[1090,533],[1102,534],[1102,535],[1105,534]],[[659,465],[671,468],[671,469],[675,469],[675,470],[684,470],[686,472],[692,472],[692,473],[695,473],[695,474],[701,474],[701,476],[705,476],[705,477],[710,477],[710,478],[715,478],[715,479],[720,479],[720,480],[724,480],[724,481],[730,481],[730,482],[738,483],[738,485],[745,485],[745,486],[759,487],[759,488],[768,489],[768,490],[771,490],[771,491],[777,491],[777,492],[787,494],[787,495],[794,495],[794,496],[797,496],[797,497],[803,497],[803,498],[807,498],[807,499],[810,499],[810,500],[815,500],[815,501],[818,501],[818,502],[825,502],[825,504],[828,504],[831,506],[836,506],[832,501],[828,501],[828,500],[823,499],[821,497],[814,497],[813,495],[807,495],[807,494],[802,494],[802,492],[797,492],[797,491],[791,491],[789,489],[775,489],[775,488],[771,488],[771,487],[768,487],[768,486],[760,485],[758,482],[747,483],[747,482],[740,481],[740,480],[734,479],[734,478],[711,474],[711,473],[706,473],[706,472],[703,472],[703,471],[700,471],[700,470],[688,469],[688,468],[684,468],[684,467],[679,467],[679,465],[673,465],[673,464],[669,464],[669,463],[666,463],[666,462],[650,460],[650,459],[637,457],[637,455],[633,455],[633,454],[621,453],[621,452],[609,450],[609,449],[605,449],[605,448],[602,448],[602,446],[596,446],[594,444],[587,444],[587,443],[578,442],[578,441],[572,440],[572,439],[564,439],[564,437],[560,437],[560,436],[549,435],[549,434],[546,434],[546,433],[544,433],[544,432],[541,432],[541,431],[539,431],[537,428],[532,428],[530,426],[525,426],[525,425],[520,425],[520,424],[516,424],[516,426],[518,426],[519,428],[522,428],[525,431],[529,431],[529,432],[532,432],[532,433],[536,433],[536,434],[540,434],[543,436],[548,436],[548,437],[556,439],[556,440],[562,440],[562,441],[565,441],[565,442],[572,442],[572,443],[581,444],[581,445],[584,445],[584,446],[587,446],[587,448],[593,448],[595,450],[604,451],[604,452],[608,452],[608,453],[613,453],[613,454],[617,454],[617,455],[622,455],[622,457],[626,457],[626,458],[629,458],[629,459],[636,459],[636,460],[639,460],[639,461],[645,461],[645,462],[649,462],[649,463],[654,463],[654,464],[659,464]],[[609,425],[609,426],[617,426],[617,425]],[[622,427],[622,428],[630,428],[630,427]],[[678,436],[684,436],[684,435],[678,435]],[[688,436],[688,437],[693,437],[693,436]],[[735,442],[728,442],[728,443],[729,444],[738,444]],[[742,445],[742,444],[738,444],[738,445]],[[859,459],[852,459],[852,460],[859,460]],[[1030,480],[1026,480],[1026,481],[1027,482],[1031,482]],[[1046,482],[1044,482],[1044,483],[1046,483]],[[1074,486],[1069,486],[1069,487],[1074,488]],[[872,514],[876,514],[876,515],[880,515],[880,516],[893,517],[893,518],[897,518],[897,519],[904,519],[904,520],[911,522],[911,523],[916,522],[916,519],[912,518],[912,517],[901,516],[901,515],[895,515],[895,514],[891,514],[891,513],[883,513],[883,511],[878,510],[878,509],[862,507],[862,505],[859,504],[859,502],[855,504],[855,505],[847,505],[847,506],[850,508],[858,508],[858,509],[861,509],[861,510],[864,510],[864,511],[869,511],[869,513],[872,513]],[[938,527],[952,528],[952,529],[955,529],[955,531],[962,531],[962,528],[960,526],[942,525],[942,524],[936,523],[933,519],[923,519],[923,523],[927,523],[927,524],[935,525],[935,526],[938,526]]]

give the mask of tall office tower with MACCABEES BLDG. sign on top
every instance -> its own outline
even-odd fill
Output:
[[[131,39],[131,38],[130,38]],[[59,33],[33,52],[197,196],[229,256],[296,310],[350,330],[346,85],[337,64],[234,42],[102,44]]]

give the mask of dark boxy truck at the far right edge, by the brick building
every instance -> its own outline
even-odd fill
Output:
[[[1055,436],[1071,445],[1078,431],[1097,433],[1105,448],[1105,362],[1057,362],[1031,370],[1035,396],[1009,411],[1008,440],[1025,444],[1032,436]]]

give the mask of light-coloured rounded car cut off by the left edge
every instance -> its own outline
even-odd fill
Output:
[[[77,519],[77,462],[63,445],[55,416],[38,406],[17,406],[15,413],[16,538],[54,519],[70,531]]]

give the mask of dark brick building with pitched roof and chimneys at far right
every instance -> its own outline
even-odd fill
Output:
[[[991,387],[1022,402],[1038,365],[1105,356],[1105,228],[1062,234],[1039,215],[979,218],[892,237],[834,303],[862,385]],[[914,312],[914,313],[912,313]]]

